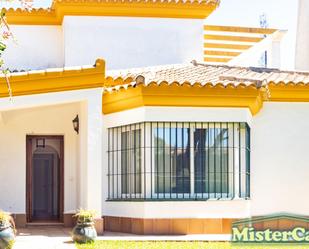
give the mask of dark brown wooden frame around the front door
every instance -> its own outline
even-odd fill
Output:
[[[64,136],[63,135],[26,135],[26,216],[27,222],[32,222],[32,143],[33,138],[60,140],[60,194],[59,222],[63,222],[64,211]]]

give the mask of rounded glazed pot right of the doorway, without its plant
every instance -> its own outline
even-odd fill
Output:
[[[77,243],[93,242],[97,238],[97,231],[95,230],[93,222],[78,222],[73,228],[72,239]]]

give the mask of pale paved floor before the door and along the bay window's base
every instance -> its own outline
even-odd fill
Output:
[[[71,229],[63,227],[31,227],[18,229],[13,249],[76,249],[70,236]],[[134,241],[228,241],[230,235],[148,236],[105,232],[98,240]]]

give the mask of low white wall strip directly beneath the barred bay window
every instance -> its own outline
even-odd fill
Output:
[[[250,201],[106,202],[104,215],[132,218],[247,218]]]

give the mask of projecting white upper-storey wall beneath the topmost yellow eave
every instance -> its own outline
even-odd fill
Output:
[[[66,66],[98,57],[108,69],[203,58],[203,20],[66,16],[63,29]]]

